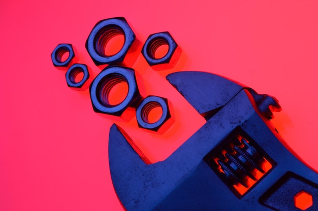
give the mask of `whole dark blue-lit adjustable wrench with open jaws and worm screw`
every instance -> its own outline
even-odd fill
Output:
[[[126,210],[318,210],[318,174],[270,123],[277,100],[226,78],[178,72],[167,80],[206,123],[166,160],[149,164],[123,129],[110,128],[109,163]],[[136,152],[137,151],[137,152]]]

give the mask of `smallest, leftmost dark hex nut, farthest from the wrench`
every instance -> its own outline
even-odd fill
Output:
[[[69,53],[69,57],[62,61],[62,56]],[[66,67],[74,58],[75,53],[71,44],[58,44],[51,54],[51,59],[54,66]]]

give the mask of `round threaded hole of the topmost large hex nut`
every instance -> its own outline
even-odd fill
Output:
[[[97,33],[94,46],[100,56],[110,57],[122,49],[124,42],[123,30],[117,25],[109,25]]]

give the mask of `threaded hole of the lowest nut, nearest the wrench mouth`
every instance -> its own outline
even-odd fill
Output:
[[[148,102],[141,110],[141,118],[144,122],[152,124],[160,120],[163,108],[158,102]]]

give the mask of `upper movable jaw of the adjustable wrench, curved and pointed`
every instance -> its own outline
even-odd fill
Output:
[[[243,89],[233,81],[205,72],[176,72],[166,78],[207,120]]]

